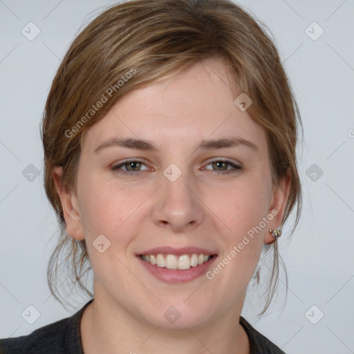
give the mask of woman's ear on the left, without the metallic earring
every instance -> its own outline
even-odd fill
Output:
[[[66,231],[73,239],[83,240],[84,230],[80,220],[80,208],[77,203],[75,192],[71,191],[62,184],[63,167],[55,166],[52,171],[52,177],[55,183],[55,189],[62,201]]]

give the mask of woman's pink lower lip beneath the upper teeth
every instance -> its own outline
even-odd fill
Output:
[[[217,257],[214,256],[212,259],[209,259],[209,261],[196,265],[196,267],[191,267],[186,270],[176,270],[161,268],[158,265],[152,265],[151,263],[143,261],[140,257],[138,257],[142,265],[149,270],[151,274],[166,283],[186,283],[187,281],[192,281],[198,277],[201,277],[209,268],[211,268],[216,258]]]

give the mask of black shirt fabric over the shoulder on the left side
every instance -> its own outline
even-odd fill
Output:
[[[80,322],[84,308],[91,301],[75,315],[38,328],[29,335],[0,339],[0,354],[82,353]]]

